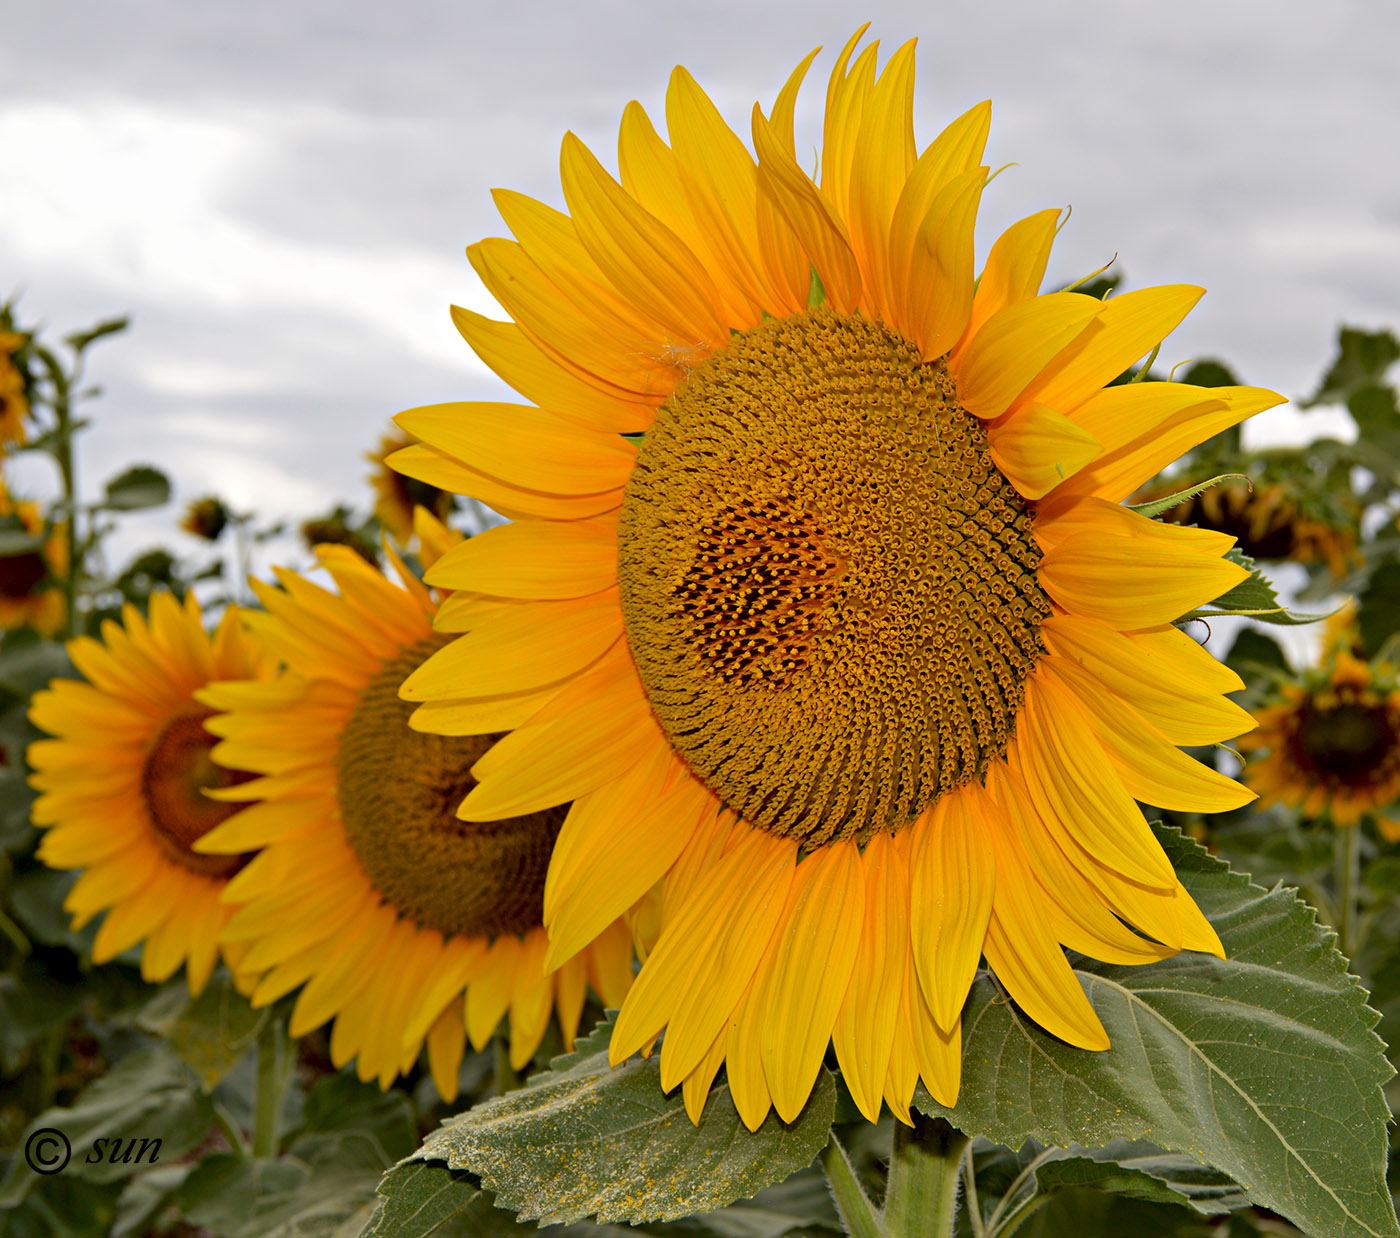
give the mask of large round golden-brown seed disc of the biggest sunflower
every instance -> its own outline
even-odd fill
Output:
[[[900,829],[1005,753],[1050,604],[1025,501],[944,366],[827,308],[658,410],[627,482],[627,639],[672,744],[809,846]]]

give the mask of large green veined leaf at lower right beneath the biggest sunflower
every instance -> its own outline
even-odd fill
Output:
[[[1113,1042],[1103,1053],[1043,1032],[981,975],[963,1011],[958,1105],[923,1090],[916,1105],[1011,1146],[1149,1139],[1306,1232],[1400,1234],[1385,1183],[1393,1070],[1334,934],[1292,891],[1253,885],[1175,829],[1158,837],[1226,958],[1075,958]]]

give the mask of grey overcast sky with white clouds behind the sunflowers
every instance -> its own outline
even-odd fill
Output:
[[[133,317],[94,359],[90,486],[153,461],[181,499],[364,508],[395,412],[510,398],[448,319],[493,312],[463,256],[504,231],[491,186],[561,206],[563,133],[612,165],[676,63],[746,133],[820,43],[811,150],[865,18],[920,41],[920,143],[994,101],[988,160],[1016,167],[980,252],[1072,203],[1049,281],[1117,253],[1131,287],[1210,290],[1168,364],[1298,396],[1338,322],[1400,326],[1400,6],[1375,0],[0,0],[0,297],[60,332]]]

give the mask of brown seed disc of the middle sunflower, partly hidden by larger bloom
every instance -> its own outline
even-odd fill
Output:
[[[510,821],[459,821],[472,766],[500,735],[409,728],[399,685],[451,637],[389,657],[360,692],[342,737],[340,815],[379,895],[448,934],[525,933],[543,917],[545,872],[567,805]]]

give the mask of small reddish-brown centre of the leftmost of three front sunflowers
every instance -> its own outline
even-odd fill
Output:
[[[218,742],[204,730],[214,710],[190,704],[175,713],[151,741],[141,766],[141,798],[155,840],[174,863],[202,877],[231,877],[246,856],[203,856],[199,839],[246,804],[223,804],[204,791],[248,781],[252,774],[214,765],[210,749]]]

